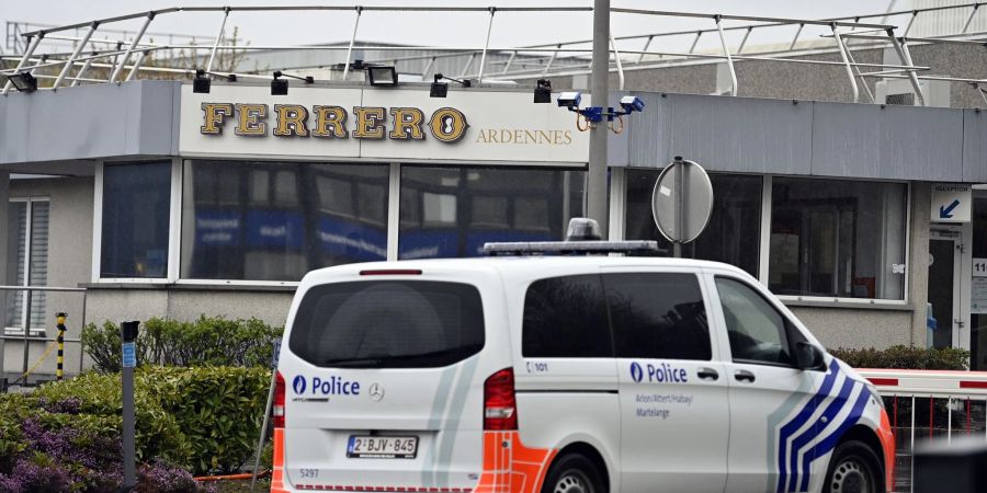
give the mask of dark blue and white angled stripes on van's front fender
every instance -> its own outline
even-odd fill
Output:
[[[778,493],[808,491],[813,462],[860,422],[871,392],[833,358],[822,385],[778,431]]]

